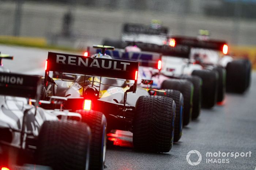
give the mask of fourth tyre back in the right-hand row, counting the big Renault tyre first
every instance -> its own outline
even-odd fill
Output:
[[[189,80],[193,83],[193,109],[192,109],[192,119],[198,118],[201,112],[201,103],[202,103],[202,79],[199,76],[183,76],[184,79]]]

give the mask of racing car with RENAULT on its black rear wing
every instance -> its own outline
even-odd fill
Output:
[[[63,108],[81,112],[82,117],[89,110],[104,113],[107,130],[131,131],[137,150],[169,152],[174,138],[174,100],[154,95],[160,92],[157,90],[137,88],[139,62],[105,55],[113,47],[94,47],[101,53],[91,57],[48,53],[46,99],[50,95],[67,97]],[[52,71],[54,79],[49,77]]]

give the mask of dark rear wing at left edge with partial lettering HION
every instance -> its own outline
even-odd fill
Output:
[[[0,95],[37,99],[41,76],[0,72]]]

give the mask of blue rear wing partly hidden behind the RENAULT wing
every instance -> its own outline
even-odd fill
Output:
[[[97,54],[100,49],[87,47],[89,54]],[[158,63],[162,59],[162,54],[156,52],[125,52],[124,50],[106,50],[105,53],[113,59],[129,60],[139,62],[140,66],[153,67],[159,69]],[[160,69],[159,69],[160,70]]]

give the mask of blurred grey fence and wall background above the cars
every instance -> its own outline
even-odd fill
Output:
[[[0,43],[84,49],[157,19],[170,34],[207,29],[256,62],[255,9],[256,0],[0,0]]]

